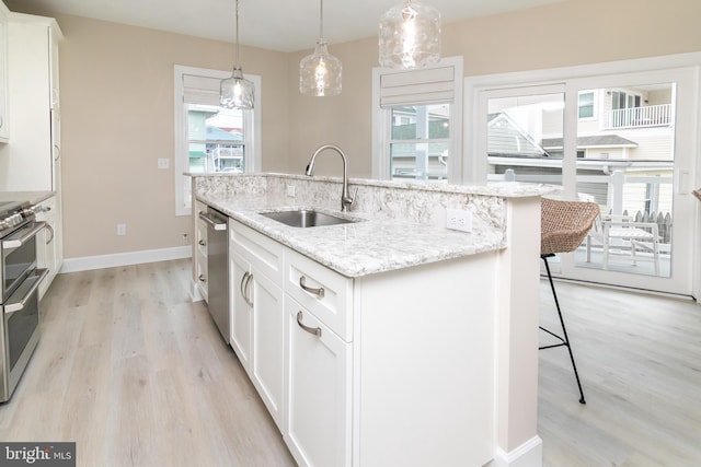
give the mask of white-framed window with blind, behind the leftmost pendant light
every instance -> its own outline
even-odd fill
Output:
[[[261,166],[258,105],[219,107],[219,82],[230,72],[175,66],[175,214],[192,211],[192,180],[183,173],[243,173]],[[261,101],[261,78],[246,74]]]

